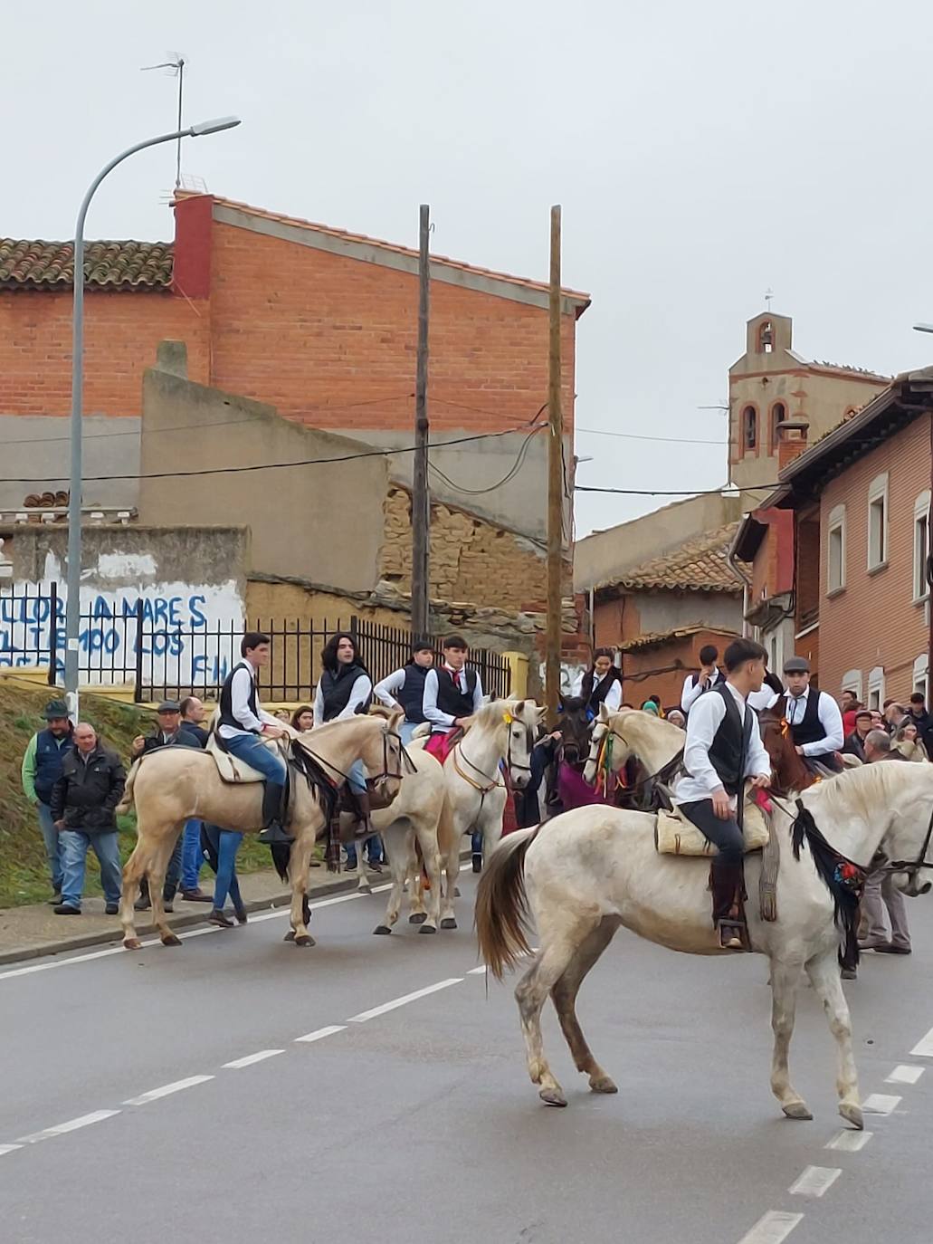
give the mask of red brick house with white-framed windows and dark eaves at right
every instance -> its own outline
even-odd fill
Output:
[[[933,369],[898,377],[785,464],[734,549],[753,561],[749,622],[784,632],[832,695],[875,707],[927,692]]]

